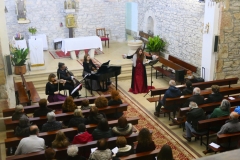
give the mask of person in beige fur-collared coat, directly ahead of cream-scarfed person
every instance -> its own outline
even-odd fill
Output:
[[[118,126],[113,127],[113,134],[116,136],[126,136],[132,134],[132,124],[127,122],[126,117],[122,116],[118,119]]]

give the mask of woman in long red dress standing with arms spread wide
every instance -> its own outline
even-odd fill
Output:
[[[132,92],[134,94],[147,93],[149,89],[152,89],[151,86],[147,85],[147,74],[144,64],[146,62],[146,59],[157,59],[158,57],[155,55],[145,56],[142,48],[138,48],[133,55],[127,56],[124,54],[123,58],[132,59],[133,61],[132,83],[129,92]]]

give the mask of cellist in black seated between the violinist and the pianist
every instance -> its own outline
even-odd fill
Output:
[[[58,63],[57,76],[58,76],[58,79],[64,79],[67,81],[65,85],[62,86],[63,88],[61,89],[67,89],[69,91],[69,95],[71,95],[72,91],[74,90],[74,83],[73,83],[74,76],[70,76],[67,70],[67,66],[65,66],[64,63],[61,63],[61,62]],[[80,96],[78,90],[74,92],[71,96],[73,98],[78,98]]]

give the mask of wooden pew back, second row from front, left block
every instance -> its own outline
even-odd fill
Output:
[[[105,113],[105,114],[111,114],[111,113],[116,113],[116,112],[123,112],[127,110],[128,104],[124,103],[121,105],[116,105],[116,106],[108,106],[104,108],[99,108],[99,112]],[[89,115],[90,110],[83,110],[82,114],[87,116]],[[56,120],[57,121],[64,121],[64,120],[69,120],[70,118],[73,117],[73,112],[68,112],[68,113],[60,113],[56,114]],[[47,117],[34,117],[34,118],[29,118],[30,122],[36,125],[42,125],[47,122]],[[10,129],[15,129],[18,126],[19,121],[12,121],[12,119],[5,119],[4,124],[6,126],[6,130]]]

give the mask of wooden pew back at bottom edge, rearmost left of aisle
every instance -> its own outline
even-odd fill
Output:
[[[150,159],[151,160],[151,159],[155,159],[155,157],[160,152],[160,150],[161,149],[155,149],[153,151],[131,154],[129,156],[120,157],[120,159],[121,160],[128,160],[128,159],[136,159],[136,160],[149,160]]]

